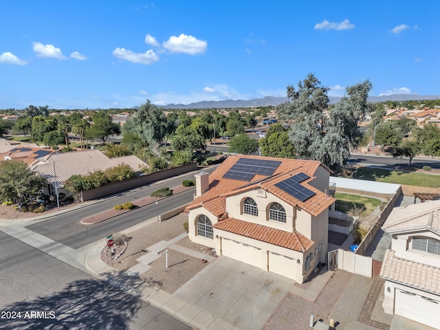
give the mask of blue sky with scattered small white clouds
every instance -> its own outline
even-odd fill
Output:
[[[0,109],[440,94],[440,1],[0,1]]]

